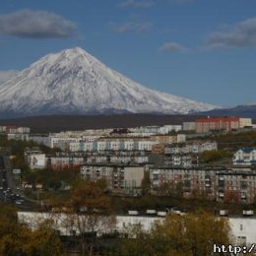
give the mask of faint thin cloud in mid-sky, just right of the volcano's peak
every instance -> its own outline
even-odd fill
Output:
[[[125,33],[125,32],[146,33],[152,30],[152,23],[141,22],[135,19],[131,19],[122,24],[111,23],[110,28],[113,32],[119,32],[119,33]]]

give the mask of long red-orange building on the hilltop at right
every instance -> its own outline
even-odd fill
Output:
[[[231,131],[240,127],[238,117],[208,117],[196,119],[196,133]]]

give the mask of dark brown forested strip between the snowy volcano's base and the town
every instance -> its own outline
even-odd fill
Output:
[[[169,114],[48,115],[0,119],[0,125],[29,126],[32,128],[32,133],[48,133],[64,130],[182,124],[183,121],[192,121],[196,117]]]

